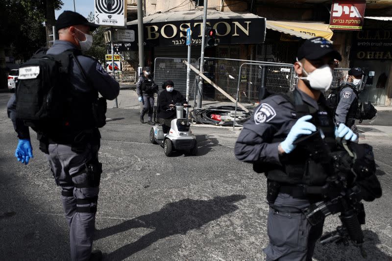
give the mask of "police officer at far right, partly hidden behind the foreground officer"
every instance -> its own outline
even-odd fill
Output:
[[[348,71],[347,82],[340,87],[339,103],[336,108],[336,121],[344,123],[358,136],[358,128],[355,125],[355,115],[358,110],[359,93],[361,92],[362,77],[364,71],[361,68],[351,68]],[[356,140],[358,142],[358,139]]]

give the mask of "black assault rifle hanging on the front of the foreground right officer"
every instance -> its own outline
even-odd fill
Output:
[[[351,241],[360,248],[361,254],[365,258],[366,252],[362,247],[364,235],[361,228],[361,225],[365,224],[365,209],[361,203],[363,199],[361,186],[357,185],[360,173],[356,173],[354,170],[357,157],[350,149],[350,142],[336,141],[336,150],[331,151],[324,141],[322,131],[318,130],[309,136],[298,139],[295,143],[300,144],[314,162],[321,164],[328,173],[331,173],[324,186],[304,187],[306,193],[318,194],[323,197],[323,201],[312,204],[304,211],[312,225],[319,224],[330,214],[340,213],[339,218],[342,225],[338,226],[336,231],[321,237],[321,244],[336,242],[347,246]],[[355,167],[355,169],[358,168]],[[360,169],[372,170],[370,166]]]

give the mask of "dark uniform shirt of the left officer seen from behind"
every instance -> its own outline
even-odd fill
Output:
[[[77,49],[77,47],[68,41],[56,40],[54,41],[53,47],[47,51],[47,54],[60,54],[70,49]],[[72,74],[69,77],[69,81],[76,90],[80,92],[96,90],[100,95],[108,100],[113,100],[117,97],[117,95],[119,95],[119,83],[102,68],[97,60],[84,55],[77,55],[77,59],[79,60],[81,67],[86,72],[90,84],[83,77],[79,67],[75,64],[75,61],[71,59],[70,69]],[[14,129],[18,133],[18,138],[29,139],[30,135],[28,127],[25,126],[23,121],[16,118],[15,95],[13,95],[8,101],[7,114],[14,124]]]

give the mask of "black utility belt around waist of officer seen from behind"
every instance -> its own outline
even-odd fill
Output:
[[[86,150],[87,145],[99,147],[101,138],[98,128],[82,130],[78,134],[66,138],[52,138],[43,133],[37,133],[37,139],[40,142],[40,150],[49,154],[49,144],[69,144],[71,150],[75,153],[82,153]]]

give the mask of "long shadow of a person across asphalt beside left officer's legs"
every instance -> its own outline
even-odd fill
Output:
[[[245,199],[245,195],[217,196],[210,200],[182,199],[166,204],[160,211],[142,215],[110,228],[96,231],[94,239],[108,237],[132,228],[150,228],[154,231],[109,253],[107,260],[123,260],[137,253],[157,240],[175,234],[185,235],[189,230],[238,210],[234,204]]]

